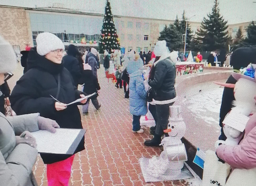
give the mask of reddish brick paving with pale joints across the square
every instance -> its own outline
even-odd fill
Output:
[[[129,99],[124,99],[123,89],[107,81],[103,68],[98,74],[101,109],[96,111],[91,104],[89,114],[82,116],[83,127],[87,129],[85,150],[75,156],[70,185],[188,185],[184,180],[145,183],[139,158],[159,155],[161,150],[144,146],[145,139],[152,138],[149,129],[143,134],[132,133]],[[39,185],[47,186],[46,168],[40,157],[34,174]]]

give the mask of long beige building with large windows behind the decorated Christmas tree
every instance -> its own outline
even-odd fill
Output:
[[[65,8],[21,8],[0,6],[1,35],[12,45],[24,50],[26,44],[36,46],[36,37],[41,32],[57,35],[65,44],[74,44],[80,50],[98,47],[104,16],[73,12]],[[114,24],[125,51],[137,52],[154,48],[160,32],[173,20],[147,19],[139,17],[114,16]],[[201,23],[189,22],[193,34],[200,29]],[[239,27],[246,37],[248,23],[229,25],[229,35],[234,38]]]

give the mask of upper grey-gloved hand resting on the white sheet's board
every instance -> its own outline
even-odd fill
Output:
[[[37,122],[39,130],[47,130],[51,133],[55,133],[55,128],[60,128],[60,126],[55,120],[51,120],[49,118],[38,116]]]

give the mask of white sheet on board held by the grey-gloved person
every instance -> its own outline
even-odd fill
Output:
[[[38,130],[32,135],[36,138],[37,151],[40,153],[73,154],[84,133],[84,129],[57,128],[56,133]]]

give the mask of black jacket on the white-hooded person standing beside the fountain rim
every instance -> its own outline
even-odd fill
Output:
[[[172,60],[164,59],[154,63],[148,85],[155,92],[153,99],[166,101],[176,97],[175,78],[176,67]]]

